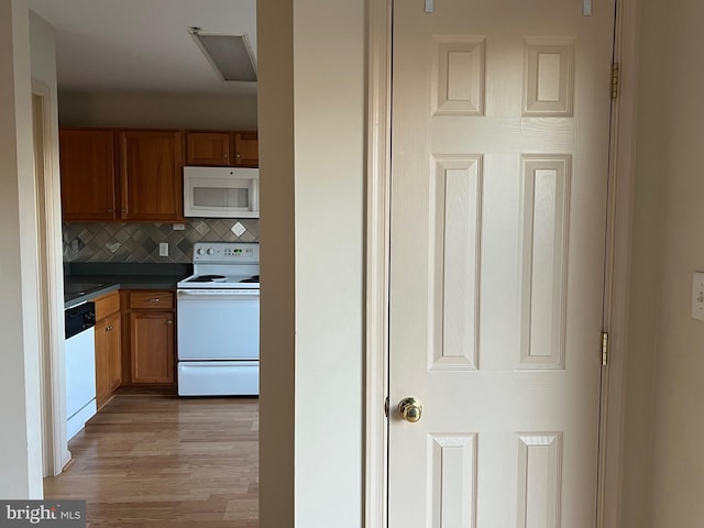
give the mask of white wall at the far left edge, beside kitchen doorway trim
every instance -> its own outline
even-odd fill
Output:
[[[26,0],[0,0],[0,497],[41,498],[36,210]]]

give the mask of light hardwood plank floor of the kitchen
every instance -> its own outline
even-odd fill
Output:
[[[46,498],[87,501],[89,527],[258,526],[258,403],[118,394],[70,442]]]

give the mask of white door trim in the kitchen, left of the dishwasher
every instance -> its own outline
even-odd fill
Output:
[[[58,187],[58,131],[56,109],[52,107],[50,87],[36,79],[32,80],[32,95],[38,97],[41,103],[34,106],[34,125],[36,133],[35,156],[37,175],[35,199],[37,211],[44,210],[43,218],[37,220],[37,246],[44,249],[45,255],[38,262],[40,309],[42,320],[40,328],[42,340],[40,350],[42,381],[42,436],[43,451],[46,458],[44,476],[62,473],[70,461],[66,441],[66,404],[64,391],[64,284],[62,251],[62,213],[61,189]],[[36,101],[38,102],[38,101]],[[38,107],[38,108],[37,108]],[[41,177],[40,177],[41,176]],[[41,204],[40,204],[41,202]],[[43,221],[43,226],[38,224]],[[42,256],[42,255],[37,255]]]

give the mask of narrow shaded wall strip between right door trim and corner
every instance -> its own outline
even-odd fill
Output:
[[[668,114],[667,75],[663,75],[667,46],[663,45],[661,29],[662,21],[667,19],[664,2],[641,2],[629,348],[624,416],[624,528],[652,526],[653,360],[658,337]]]

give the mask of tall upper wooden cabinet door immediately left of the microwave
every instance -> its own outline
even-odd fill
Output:
[[[180,132],[124,131],[120,145],[121,218],[183,219]]]

